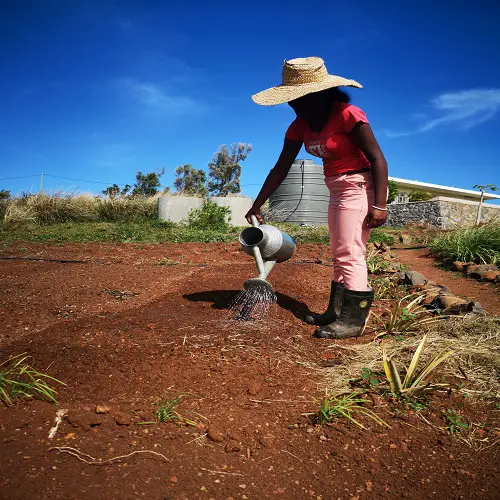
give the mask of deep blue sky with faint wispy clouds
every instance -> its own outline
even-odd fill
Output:
[[[44,172],[47,189],[98,192],[83,180],[162,167],[171,185],[178,165],[247,142],[254,196],[294,116],[250,96],[310,55],[363,84],[353,103],[390,175],[500,184],[498,2],[172,3],[0,2],[0,189],[37,190]],[[19,176],[33,177],[5,179]]]

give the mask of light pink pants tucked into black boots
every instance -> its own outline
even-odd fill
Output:
[[[333,257],[333,279],[348,290],[371,290],[366,269],[366,243],[371,228],[367,215],[374,193],[369,172],[325,178],[330,190],[328,227]]]

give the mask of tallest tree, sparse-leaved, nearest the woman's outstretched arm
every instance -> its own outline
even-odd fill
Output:
[[[237,194],[241,192],[240,163],[252,151],[251,144],[240,142],[231,145],[231,152],[223,144],[219,151],[214,154],[212,161],[208,164],[209,182],[208,191],[214,196],[227,196],[228,194]]]

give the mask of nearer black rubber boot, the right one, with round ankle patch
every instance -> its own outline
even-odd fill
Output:
[[[345,339],[363,333],[373,302],[373,292],[354,292],[345,289],[344,301],[337,321],[318,328],[313,337],[321,339]]]

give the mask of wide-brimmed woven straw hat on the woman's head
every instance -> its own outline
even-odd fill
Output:
[[[329,75],[325,61],[320,57],[301,57],[283,63],[281,85],[252,96],[261,106],[274,106],[293,101],[313,92],[332,87],[358,87],[358,82],[341,76]]]

